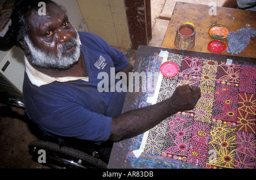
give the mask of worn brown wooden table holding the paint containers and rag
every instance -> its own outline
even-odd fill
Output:
[[[207,45],[209,41],[214,40],[213,37],[208,34],[209,28],[213,24],[223,24],[228,27],[229,32],[235,32],[241,28],[247,27],[256,29],[255,11],[217,7],[217,15],[209,15],[209,10],[210,7],[208,5],[177,2],[163,40],[162,48],[177,49],[174,45],[177,27],[185,22],[193,23],[196,28],[195,47],[190,51],[205,53],[210,53]],[[222,39],[221,41],[228,46],[226,39]],[[249,45],[244,51],[234,56],[255,58],[255,50],[256,37],[251,38]],[[229,54],[224,52],[223,55]]]

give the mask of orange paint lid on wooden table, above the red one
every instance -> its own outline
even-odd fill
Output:
[[[228,28],[222,24],[214,24],[209,29],[209,35],[212,36],[214,39],[225,39],[228,34]]]

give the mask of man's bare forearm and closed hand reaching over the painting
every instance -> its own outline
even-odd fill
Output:
[[[199,87],[179,86],[166,101],[113,118],[109,139],[120,141],[140,135],[179,111],[192,110],[200,97]]]

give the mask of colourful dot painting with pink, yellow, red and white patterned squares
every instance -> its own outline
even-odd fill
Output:
[[[148,131],[144,152],[203,168],[255,169],[256,67],[170,53],[178,76],[163,77],[157,102],[177,86],[201,89],[193,110]]]

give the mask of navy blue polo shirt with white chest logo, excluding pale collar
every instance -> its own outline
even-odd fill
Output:
[[[97,35],[89,32],[79,32],[79,35],[89,81],[53,81],[37,86],[31,82],[26,70],[23,83],[26,112],[44,131],[103,142],[109,139],[112,118],[121,114],[126,93],[98,91],[98,83],[103,79],[98,79],[98,74],[108,73],[108,87],[115,86],[120,79],[110,83],[110,68],[117,72],[129,62],[122,52]]]

